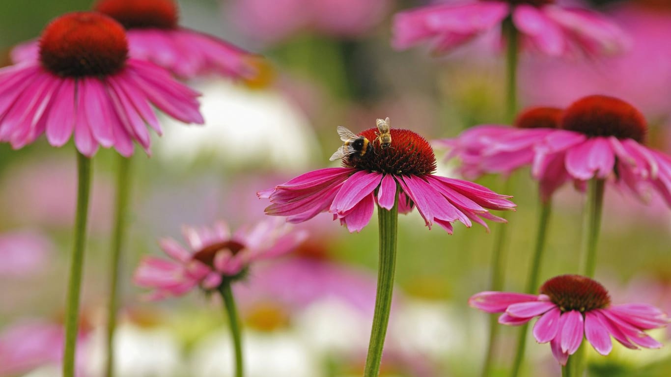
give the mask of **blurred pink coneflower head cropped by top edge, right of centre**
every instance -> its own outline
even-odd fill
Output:
[[[510,19],[523,46],[549,56],[613,54],[627,38],[611,21],[588,9],[555,0],[470,0],[402,11],[394,19],[393,46],[405,49],[431,42],[435,52],[450,52]]]

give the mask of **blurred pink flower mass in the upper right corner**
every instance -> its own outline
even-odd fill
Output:
[[[660,2],[661,3],[661,2]],[[650,117],[670,117],[671,2],[650,8],[623,1],[609,14],[631,37],[627,54],[590,61],[534,59],[523,62],[521,94],[530,104],[565,107],[592,93],[608,93]]]

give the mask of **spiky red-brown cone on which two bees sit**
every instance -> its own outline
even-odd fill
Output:
[[[344,158],[344,166],[396,175],[431,174],[435,170],[435,154],[425,138],[409,129],[392,128],[391,145],[382,149],[377,133],[377,128],[359,133],[370,141],[370,149],[363,156]]]

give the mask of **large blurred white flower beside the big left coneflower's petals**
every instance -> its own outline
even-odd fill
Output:
[[[198,157],[211,157],[233,166],[262,164],[290,171],[315,160],[318,143],[309,120],[282,93],[248,89],[224,79],[196,82],[193,87],[203,93],[205,125],[185,127],[164,117],[166,130],[157,152],[162,160],[189,164]]]

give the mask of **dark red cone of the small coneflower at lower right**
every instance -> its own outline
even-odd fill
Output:
[[[595,280],[581,275],[561,275],[546,281],[540,288],[562,312],[604,309],[611,305],[606,288]]]

